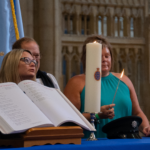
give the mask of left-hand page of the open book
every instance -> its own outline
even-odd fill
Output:
[[[0,84],[0,126],[2,132],[18,132],[52,123],[15,83]],[[10,129],[9,129],[10,127]],[[9,130],[9,131],[8,131]]]

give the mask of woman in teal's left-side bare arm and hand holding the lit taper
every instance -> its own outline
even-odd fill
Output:
[[[64,94],[66,97],[73,103],[73,105],[80,110],[81,108],[81,99],[80,94],[85,86],[85,75],[78,75],[69,80],[67,83]],[[101,119],[109,118],[112,119],[114,117],[114,107],[115,104],[105,105],[101,107],[101,112],[98,113]],[[83,113],[84,117],[90,120],[89,113]]]

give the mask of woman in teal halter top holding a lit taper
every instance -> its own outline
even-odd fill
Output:
[[[96,137],[106,137],[102,132],[102,127],[108,122],[125,117],[136,115],[142,118],[143,122],[140,125],[140,131],[146,136],[150,135],[150,125],[148,119],[142,112],[138,99],[135,93],[132,82],[127,76],[123,76],[119,84],[119,89],[115,97],[115,106],[112,104],[113,96],[119,81],[120,73],[113,73],[111,66],[113,62],[112,48],[110,43],[102,36],[94,35],[88,37],[82,48],[82,63],[85,70],[86,60],[86,44],[92,42],[102,44],[102,78],[101,78],[101,112],[99,113],[100,124],[96,125]],[[108,94],[109,93],[109,94]],[[68,99],[89,119],[90,114],[84,113],[84,99],[85,99],[85,74],[77,75],[70,79],[64,94]],[[114,109],[113,109],[114,106]],[[114,115],[115,114],[115,115]],[[87,135],[89,137],[89,135]]]

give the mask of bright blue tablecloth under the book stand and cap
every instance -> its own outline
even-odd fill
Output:
[[[1,150],[4,148],[0,148]],[[142,139],[98,139],[86,141],[81,145],[43,145],[28,148],[5,148],[5,150],[150,150],[150,137]]]

